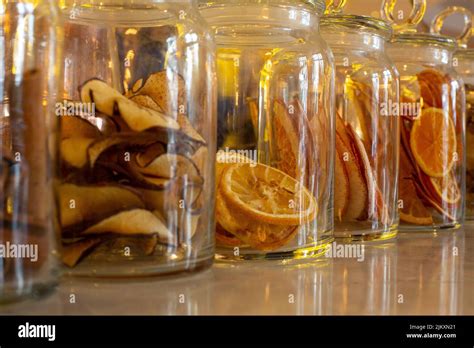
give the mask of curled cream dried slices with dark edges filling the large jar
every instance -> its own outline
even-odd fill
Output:
[[[186,105],[183,78],[166,70],[125,95],[91,79],[64,103],[57,191],[67,266],[196,253],[208,144],[171,104],[170,76]]]

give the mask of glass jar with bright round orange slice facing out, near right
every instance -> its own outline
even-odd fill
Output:
[[[452,229],[463,220],[465,95],[453,69],[455,49],[454,39],[411,27],[388,49],[400,73],[403,230]]]

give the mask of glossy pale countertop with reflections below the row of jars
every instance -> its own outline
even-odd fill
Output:
[[[400,234],[363,251],[363,260],[217,263],[197,275],[162,280],[65,278],[50,297],[0,306],[0,314],[474,314],[474,224]]]

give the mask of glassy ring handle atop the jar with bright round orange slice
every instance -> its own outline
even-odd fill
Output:
[[[389,22],[393,29],[399,33],[416,32],[416,27],[423,20],[426,12],[426,0],[412,0],[410,16],[401,23],[395,22],[395,5],[397,0],[384,0],[380,10],[384,20]],[[404,18],[399,18],[404,19]]]

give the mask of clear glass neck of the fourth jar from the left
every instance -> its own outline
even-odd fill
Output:
[[[385,39],[372,33],[337,31],[330,26],[321,27],[321,35],[331,50],[337,52],[385,50]]]

